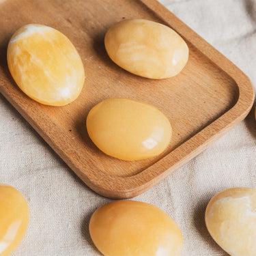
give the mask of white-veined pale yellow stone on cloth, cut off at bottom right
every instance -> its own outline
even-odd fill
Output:
[[[229,188],[208,203],[205,223],[212,238],[231,256],[256,255],[256,189]]]

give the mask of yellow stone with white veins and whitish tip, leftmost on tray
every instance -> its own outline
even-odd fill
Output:
[[[43,25],[25,25],[8,45],[8,67],[18,87],[42,104],[63,106],[83,88],[79,53],[63,33]]]

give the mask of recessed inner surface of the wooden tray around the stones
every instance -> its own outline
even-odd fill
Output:
[[[16,17],[12,16],[14,13]],[[189,42],[189,61],[184,70],[171,79],[143,79],[122,70],[106,55],[104,34],[124,18],[146,18],[165,24],[136,0],[113,0],[111,5],[102,0],[94,0],[93,4],[82,0],[0,1],[0,75],[5,83],[16,87],[6,66],[8,40],[16,29],[28,23],[40,23],[67,35],[83,60],[87,76],[83,91],[68,106],[40,104],[40,108],[72,138],[79,152],[94,158],[100,171],[119,177],[140,173],[169,154],[231,109],[239,94],[235,81]],[[167,115],[173,127],[173,138],[164,153],[128,162],[106,156],[90,141],[85,127],[87,113],[98,102],[116,97],[147,102]]]

